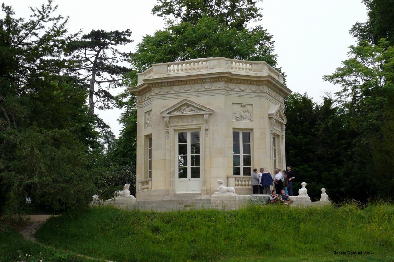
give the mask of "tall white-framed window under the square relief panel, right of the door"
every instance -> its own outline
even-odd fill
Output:
[[[250,132],[232,132],[232,174],[251,175]]]

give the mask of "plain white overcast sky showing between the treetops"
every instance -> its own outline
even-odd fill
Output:
[[[13,6],[16,17],[28,18],[29,6],[37,7],[45,0],[3,0]],[[152,15],[156,0],[55,0],[58,13],[69,16],[69,32],[130,29],[133,43],[122,48],[132,51],[143,35],[152,35],[164,27],[161,17]],[[322,77],[332,74],[347,58],[348,46],[355,44],[349,29],[355,22],[367,19],[361,0],[264,0],[264,18],[259,24],[273,35],[278,65],[286,73],[287,86],[293,92],[307,93],[314,101],[322,101],[324,91],[336,92],[340,87],[325,83]],[[115,90],[119,93],[121,90]],[[118,137],[121,130],[118,109],[95,109]]]

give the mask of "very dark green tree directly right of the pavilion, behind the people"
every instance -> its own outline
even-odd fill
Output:
[[[346,131],[340,109],[331,98],[316,104],[307,94],[294,93],[286,98],[286,165],[296,173],[294,190],[308,183],[308,194],[319,198],[326,188],[331,198],[346,195],[343,183],[343,155]]]

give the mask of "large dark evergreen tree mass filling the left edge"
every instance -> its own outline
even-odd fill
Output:
[[[2,5],[0,19],[0,209],[84,207],[96,191],[100,151],[84,81],[65,74],[67,19],[52,1],[28,21]],[[32,197],[26,204],[25,198]]]

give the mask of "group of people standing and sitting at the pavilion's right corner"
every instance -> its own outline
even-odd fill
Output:
[[[269,196],[271,203],[276,203],[279,200],[281,203],[290,205],[293,203],[293,200],[289,196],[293,196],[293,181],[296,179],[291,169],[291,166],[287,166],[287,171],[281,171],[279,168],[276,168],[274,178],[272,178],[268,170],[264,172],[264,168],[260,168],[260,172],[257,172],[257,168],[253,169],[253,194],[257,195],[260,189],[260,194],[268,195],[271,191],[271,186],[274,186],[275,189],[271,191],[271,196]],[[276,192],[281,194],[278,196]]]

